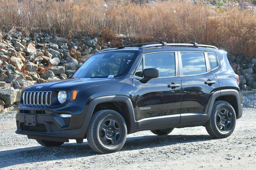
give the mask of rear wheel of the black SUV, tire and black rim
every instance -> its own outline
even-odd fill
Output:
[[[226,101],[216,101],[210,119],[206,123],[207,132],[214,138],[226,138],[236,127],[236,112]]]

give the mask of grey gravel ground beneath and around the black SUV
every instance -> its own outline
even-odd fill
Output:
[[[234,133],[212,139],[204,127],[175,128],[168,136],[150,131],[128,135],[124,147],[96,154],[86,140],[45,148],[15,134],[15,114],[0,115],[0,168],[3,169],[255,169],[256,92],[243,93],[244,112]]]

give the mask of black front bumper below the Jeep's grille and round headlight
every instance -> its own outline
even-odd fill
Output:
[[[16,115],[16,133],[27,135],[28,138],[33,139],[62,142],[68,142],[68,139],[83,139],[88,127],[88,122],[84,121],[86,111],[87,106],[72,102],[61,108],[20,105]],[[70,114],[72,117],[67,121],[67,119],[61,118],[60,114]],[[35,116],[36,126],[25,125],[26,115]]]

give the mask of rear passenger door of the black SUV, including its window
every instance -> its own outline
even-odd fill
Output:
[[[209,53],[209,55],[214,61],[215,53]],[[219,87],[210,66],[208,53],[180,51],[178,56],[182,81],[180,123],[204,121],[205,117],[202,115],[206,114],[210,97]],[[218,63],[212,63],[212,65],[212,67],[218,67]]]

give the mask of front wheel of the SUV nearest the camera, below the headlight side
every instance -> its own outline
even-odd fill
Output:
[[[86,135],[90,147],[95,152],[117,152],[126,141],[126,123],[116,111],[98,111],[92,116]]]

